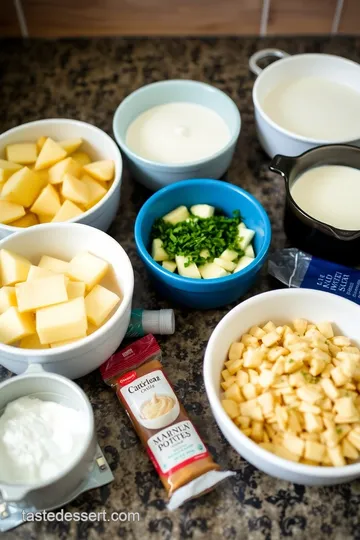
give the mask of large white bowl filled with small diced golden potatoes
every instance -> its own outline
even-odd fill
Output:
[[[360,307],[284,289],[232,309],[212,333],[204,380],[231,446],[304,485],[360,476]]]

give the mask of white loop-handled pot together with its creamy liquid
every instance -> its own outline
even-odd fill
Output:
[[[277,57],[265,69],[258,62]],[[329,54],[264,49],[249,61],[258,139],[265,152],[297,156],[325,144],[360,146],[360,65]]]

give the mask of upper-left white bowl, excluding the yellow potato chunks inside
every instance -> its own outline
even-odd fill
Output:
[[[0,158],[4,158],[5,147],[18,142],[36,142],[42,135],[54,140],[82,138],[82,148],[96,161],[112,159],[115,163],[115,178],[106,195],[90,210],[68,223],[84,223],[102,231],[107,231],[114,220],[120,204],[120,188],[122,179],[122,159],[116,143],[101,129],[80,122],[63,118],[37,120],[9,129],[0,135]],[[38,225],[39,226],[39,225]],[[19,227],[0,223],[0,239],[18,232]]]

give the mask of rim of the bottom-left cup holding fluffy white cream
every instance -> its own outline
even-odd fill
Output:
[[[64,377],[63,375],[59,375],[57,373],[51,373],[51,372],[48,372],[48,371],[44,371],[44,370],[43,371],[34,371],[34,372],[30,371],[30,372],[21,373],[20,375],[16,375],[15,377],[10,377],[10,379],[6,379],[2,383],[0,383],[0,388],[2,389],[5,386],[9,386],[11,384],[16,384],[18,381],[21,382],[24,379],[37,379],[39,377],[42,378],[42,379],[55,379],[56,381],[61,382],[62,384],[68,385],[72,389],[72,391],[74,393],[76,393],[78,395],[78,397],[80,397],[80,399],[82,399],[83,403],[86,405],[86,411],[87,411],[86,416],[87,416],[87,419],[89,421],[89,430],[86,433],[84,439],[82,439],[83,446],[82,446],[82,450],[81,450],[80,454],[65,469],[63,469],[60,473],[57,473],[56,476],[50,478],[49,480],[46,480],[45,482],[37,482],[36,484],[11,484],[9,482],[1,482],[0,481],[0,493],[1,493],[1,486],[3,486],[3,487],[4,486],[5,487],[7,487],[7,486],[9,486],[9,487],[16,486],[16,488],[18,488],[19,490],[23,490],[23,492],[24,492],[23,496],[26,496],[27,494],[32,493],[33,491],[35,491],[37,489],[46,488],[46,487],[51,486],[55,482],[58,482],[64,476],[69,474],[73,469],[75,469],[75,467],[80,465],[81,461],[84,458],[84,454],[88,451],[94,437],[96,437],[95,416],[94,416],[94,410],[93,410],[93,408],[91,406],[90,400],[89,400],[88,396],[86,395],[86,393],[84,392],[84,390],[82,388],[80,388],[80,386],[78,384],[76,384],[72,380],[68,379],[67,377]],[[28,395],[31,395],[31,394],[26,394],[26,396],[28,396]],[[23,396],[23,397],[25,397],[25,396]],[[51,400],[49,400],[49,401],[51,401]],[[69,408],[71,408],[71,407],[69,407]],[[74,410],[78,410],[75,407],[72,407],[72,408]]]

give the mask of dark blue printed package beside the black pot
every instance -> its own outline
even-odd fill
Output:
[[[360,270],[312,257],[295,248],[269,258],[269,274],[288,287],[331,292],[360,305]]]

